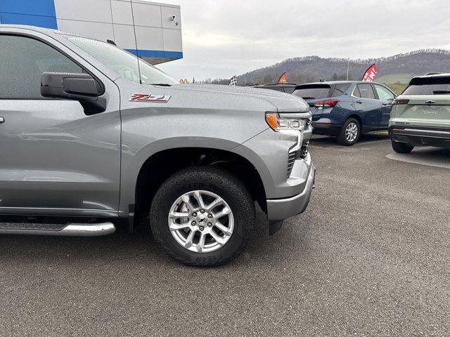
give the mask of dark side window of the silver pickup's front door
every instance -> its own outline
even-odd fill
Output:
[[[55,48],[29,37],[0,35],[0,60],[0,99],[42,100],[43,72],[83,72]]]

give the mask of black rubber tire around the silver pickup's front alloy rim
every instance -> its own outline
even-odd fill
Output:
[[[215,251],[190,251],[181,246],[169,230],[167,218],[172,204],[193,190],[217,194],[233,212],[233,233],[228,242]],[[192,166],[175,173],[161,185],[150,206],[149,219],[156,241],[169,256],[186,265],[214,267],[230,262],[247,246],[255,225],[255,203],[245,185],[229,172],[212,166]]]

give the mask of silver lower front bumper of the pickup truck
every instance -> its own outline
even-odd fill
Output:
[[[267,218],[271,222],[281,221],[302,213],[308,206],[314,188],[316,168],[311,163],[307,183],[303,192],[289,198],[267,199]]]

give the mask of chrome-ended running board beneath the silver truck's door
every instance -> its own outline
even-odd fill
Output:
[[[99,237],[113,234],[113,223],[0,223],[0,234]]]

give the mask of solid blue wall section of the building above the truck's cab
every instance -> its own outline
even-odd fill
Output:
[[[57,29],[53,0],[0,0],[0,23]]]

